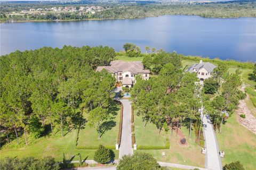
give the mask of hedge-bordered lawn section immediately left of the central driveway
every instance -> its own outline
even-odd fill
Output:
[[[119,107],[118,107],[119,108]],[[108,120],[105,128],[106,131],[102,134],[100,139],[98,139],[98,131],[94,127],[90,127],[88,124],[85,124],[84,128],[79,132],[79,139],[77,142],[78,147],[83,146],[97,146],[99,144],[108,145],[115,147],[118,125],[119,125],[119,116],[120,111],[117,111],[113,120]],[[85,115],[85,118],[87,115]]]

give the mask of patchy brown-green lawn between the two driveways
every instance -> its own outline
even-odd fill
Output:
[[[135,116],[135,114],[134,114]],[[191,139],[188,140],[188,129],[183,127],[181,130],[188,140],[188,145],[179,144],[179,136],[171,136],[171,132],[162,131],[158,134],[158,129],[154,124],[148,123],[143,127],[141,118],[135,116],[135,140],[137,145],[165,145],[166,137],[170,140],[170,149],[164,150],[135,150],[134,152],[146,152],[153,155],[158,161],[166,161],[170,163],[185,164],[191,166],[204,167],[204,155],[201,154],[201,147],[195,143],[195,132],[191,133]],[[162,156],[165,152],[165,156]]]

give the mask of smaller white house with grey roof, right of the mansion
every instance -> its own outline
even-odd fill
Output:
[[[212,77],[213,69],[216,68],[214,64],[210,62],[203,62],[200,60],[198,64],[193,64],[188,68],[189,72],[196,72],[197,77],[200,80],[204,80],[206,78]]]

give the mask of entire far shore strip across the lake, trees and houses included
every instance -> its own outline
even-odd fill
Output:
[[[237,18],[256,17],[255,1],[230,2],[4,2],[1,3],[1,22],[69,21],[132,19],[159,15],[198,15],[200,17]]]

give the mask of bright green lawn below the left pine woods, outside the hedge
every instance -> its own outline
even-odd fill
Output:
[[[61,133],[58,132],[54,136],[40,137],[39,139],[33,139],[29,137],[29,145],[18,148],[16,141],[12,141],[10,144],[4,146],[1,149],[1,159],[4,157],[44,157],[52,156],[57,161],[62,160],[63,153],[65,153],[66,159],[70,159],[77,153],[81,153],[82,159],[93,159],[95,150],[78,150],[76,147],[77,130],[73,130],[61,137]],[[21,142],[24,142],[23,136],[20,137]],[[114,150],[116,157],[118,158],[118,151]],[[79,160],[76,156],[73,160]]]

